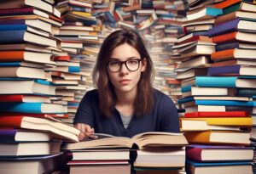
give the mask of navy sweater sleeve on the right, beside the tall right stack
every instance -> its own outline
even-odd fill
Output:
[[[163,94],[160,106],[160,132],[179,132],[177,108],[166,94]]]

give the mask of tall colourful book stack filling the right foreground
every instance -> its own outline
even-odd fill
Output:
[[[193,21],[204,14],[201,16],[204,21],[212,20],[214,22],[212,29],[208,28],[209,31],[203,32],[205,36],[200,34],[196,38],[204,42],[210,39],[213,43],[207,44],[208,48],[204,43],[203,47],[196,46],[197,49],[193,52],[177,55],[177,59],[180,57],[187,59],[184,55],[188,54],[189,65],[210,63],[207,65],[209,68],[197,70],[197,76],[195,71],[190,72],[189,75],[193,74],[193,77],[189,79],[190,76],[186,76],[187,79],[182,81],[183,98],[178,102],[183,104],[186,113],[180,120],[181,131],[185,132],[184,135],[191,144],[186,149],[189,159],[187,171],[189,173],[216,171],[253,173],[253,148],[249,146],[255,104],[252,95],[242,95],[240,91],[254,88],[255,68],[252,53],[254,41],[251,36],[254,29],[253,24],[247,24],[245,29],[241,23],[243,20],[253,23],[252,10],[256,6],[253,3],[229,0],[209,5],[195,7],[199,11],[197,13],[189,11],[187,17]],[[243,8],[245,5],[251,8]],[[251,14],[251,20],[250,17],[245,16],[248,13]],[[242,15],[239,17],[238,14]],[[212,18],[211,15],[218,17]],[[231,20],[234,20],[234,23]],[[199,27],[194,29],[199,30]],[[250,36],[238,36],[239,34],[236,33]],[[232,42],[237,42],[238,45],[246,44],[247,48],[235,46]],[[252,48],[248,48],[250,45]],[[183,52],[183,49],[180,50]],[[191,58],[195,53],[201,52],[208,52],[207,61],[201,56],[201,61],[195,64],[195,59]],[[247,52],[251,54],[246,55]],[[183,63],[182,61],[180,65]],[[204,144],[204,146],[193,144]]]

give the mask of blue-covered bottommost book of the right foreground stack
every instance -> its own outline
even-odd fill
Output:
[[[186,169],[189,174],[253,174],[251,162],[210,162],[201,163],[187,160]]]

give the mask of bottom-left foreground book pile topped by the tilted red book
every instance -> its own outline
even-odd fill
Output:
[[[51,173],[67,169],[62,141],[78,142],[79,130],[59,121],[25,115],[0,116],[3,173]]]

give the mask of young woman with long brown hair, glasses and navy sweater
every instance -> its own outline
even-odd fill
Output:
[[[110,34],[93,71],[97,89],[84,95],[74,118],[79,139],[95,138],[94,132],[130,138],[142,132],[179,132],[175,105],[151,85],[152,66],[136,31]]]

